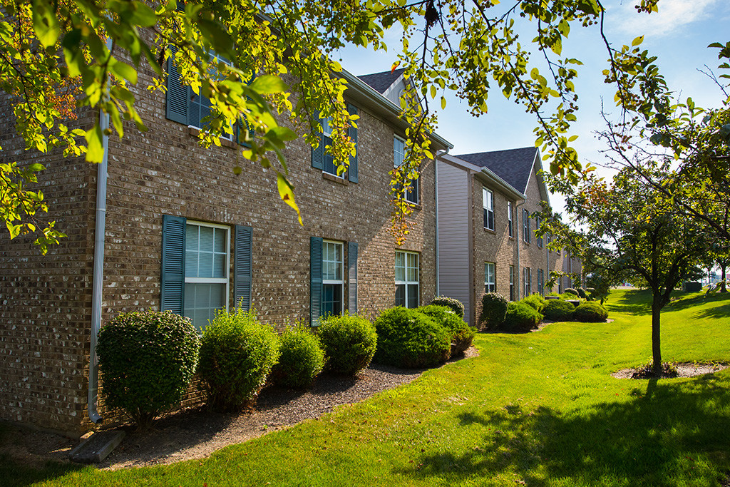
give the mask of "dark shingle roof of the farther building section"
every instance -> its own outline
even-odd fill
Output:
[[[454,156],[462,161],[470,162],[475,166],[486,167],[494,174],[502,177],[505,183],[524,193],[527,191],[527,182],[530,179],[532,164],[535,161],[537,147],[522,147],[520,149],[493,150]]]

